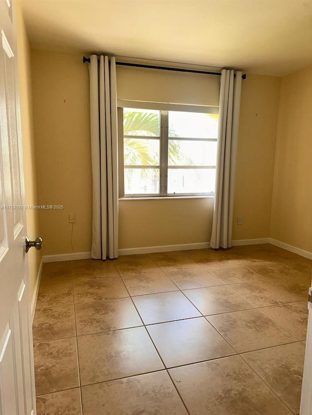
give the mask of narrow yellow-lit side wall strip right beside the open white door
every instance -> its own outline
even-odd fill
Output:
[[[23,145],[23,164],[25,182],[25,204],[37,205],[37,170],[34,147],[33,129],[33,107],[31,91],[31,63],[30,45],[22,17],[20,5],[17,3],[17,27],[18,27],[18,68],[19,68],[19,90],[20,90],[20,117]],[[30,238],[40,235],[39,213],[36,210],[26,211],[27,234]],[[37,276],[40,266],[41,252],[30,250],[29,261],[29,282],[31,298],[35,291]]]

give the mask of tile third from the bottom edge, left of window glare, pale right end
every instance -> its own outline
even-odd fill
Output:
[[[75,318],[78,336],[143,324],[131,298],[76,304]]]

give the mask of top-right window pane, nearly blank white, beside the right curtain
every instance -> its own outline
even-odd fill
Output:
[[[169,111],[169,137],[217,138],[218,114]]]

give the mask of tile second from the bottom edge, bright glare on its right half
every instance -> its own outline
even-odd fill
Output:
[[[144,327],[78,336],[81,385],[163,369]]]

